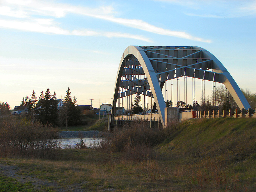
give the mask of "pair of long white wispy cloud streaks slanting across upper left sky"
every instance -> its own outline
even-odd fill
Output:
[[[166,35],[166,36],[173,36],[179,38],[185,38],[195,41],[202,41],[202,42],[211,42],[209,39],[203,39],[199,37],[195,37],[190,35],[185,31],[173,31],[169,29],[164,29],[161,27],[157,27],[151,25],[140,19],[126,19],[115,17],[116,12],[112,6],[101,6],[98,8],[90,8],[84,6],[73,6],[68,4],[60,4],[60,3],[51,3],[45,1],[21,1],[21,0],[8,0],[3,1],[4,8],[6,11],[0,12],[2,15],[11,16],[11,17],[18,17],[18,18],[27,18],[31,19],[34,18],[36,15],[39,16],[50,16],[55,18],[66,17],[68,14],[78,14],[84,15],[88,17],[98,18],[102,20],[107,20],[109,22],[113,22],[119,25],[140,29],[143,31],[148,31],[151,33],[159,34],[159,35]],[[12,8],[10,8],[12,7]],[[9,24],[7,24],[7,23]],[[61,34],[61,35],[82,35],[82,36],[104,36],[104,37],[120,37],[120,38],[132,38],[143,40],[146,42],[152,42],[150,39],[139,36],[133,35],[128,33],[121,33],[121,32],[102,32],[102,31],[95,31],[95,30],[71,30],[68,31],[66,29],[60,28],[56,23],[53,22],[52,19],[49,20],[33,20],[33,21],[3,21],[0,26],[8,27],[8,28],[15,28],[19,30],[28,30],[28,31],[35,31],[41,33],[52,33],[52,34]],[[42,23],[46,22],[46,23]],[[49,22],[49,23],[47,23]],[[35,29],[34,27],[38,27]]]

